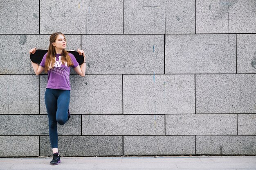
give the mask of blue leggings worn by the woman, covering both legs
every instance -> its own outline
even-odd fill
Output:
[[[58,148],[57,123],[67,122],[70,90],[48,89],[45,91],[45,106],[49,119],[49,136],[52,148]]]

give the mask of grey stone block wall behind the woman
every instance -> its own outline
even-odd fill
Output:
[[[0,157],[52,154],[29,49],[57,31],[87,57],[61,155],[256,155],[255,0],[7,0]]]

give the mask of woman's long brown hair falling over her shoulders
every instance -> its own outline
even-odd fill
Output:
[[[52,43],[56,41],[57,36],[59,34],[61,34],[65,37],[65,35],[61,32],[53,33],[50,36],[50,45],[49,45],[48,53],[47,53],[46,60],[45,60],[45,72],[48,72],[48,70],[50,70],[54,66],[54,63],[55,63],[54,57],[56,55],[56,52],[55,52],[55,47],[52,45]],[[65,37],[65,40],[66,40],[66,37]],[[67,40],[66,40],[66,43],[67,43]],[[70,67],[71,65],[74,65],[74,64],[73,64],[73,62],[72,62],[68,53],[69,52],[67,52],[66,49],[62,50],[62,53],[61,53],[62,64],[65,65],[65,62],[66,62],[67,66]]]

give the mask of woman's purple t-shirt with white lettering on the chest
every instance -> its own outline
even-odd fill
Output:
[[[43,60],[40,63],[42,67],[45,67],[45,59],[46,59],[47,53],[44,55]],[[76,58],[71,53],[69,53],[69,55],[74,64],[72,65],[72,68],[77,67],[79,63],[76,61]],[[54,64],[54,67],[48,70],[48,80],[47,80],[46,88],[71,90],[70,67],[68,67],[67,65],[63,65],[61,63],[61,54],[56,54],[55,61],[56,62]]]

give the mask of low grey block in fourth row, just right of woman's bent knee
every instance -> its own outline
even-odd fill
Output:
[[[82,135],[164,135],[164,115],[83,115]]]

